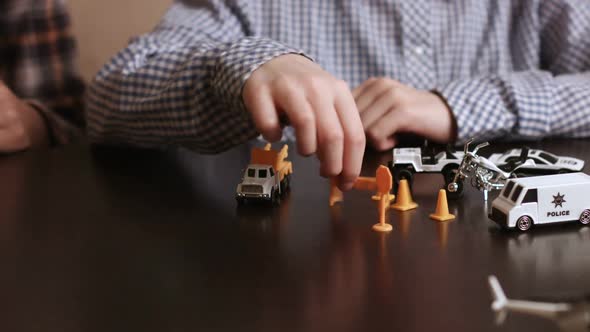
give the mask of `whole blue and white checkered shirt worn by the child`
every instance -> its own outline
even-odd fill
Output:
[[[590,136],[588,0],[186,0],[131,41],[87,98],[94,142],[218,152],[257,135],[241,90],[304,54],[357,86],[435,90],[459,143]]]

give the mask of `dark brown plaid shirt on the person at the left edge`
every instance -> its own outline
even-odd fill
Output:
[[[0,0],[0,79],[41,112],[53,144],[79,137],[84,86],[64,0]]]

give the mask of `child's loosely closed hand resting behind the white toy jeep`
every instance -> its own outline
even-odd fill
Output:
[[[367,138],[377,150],[393,148],[398,133],[413,133],[439,143],[455,140],[455,119],[434,93],[388,78],[371,78],[354,89],[353,96]]]

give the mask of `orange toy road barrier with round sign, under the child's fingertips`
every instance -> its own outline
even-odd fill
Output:
[[[379,166],[374,178],[371,177],[359,177],[354,183],[353,188],[357,190],[374,190],[375,195],[372,197],[373,200],[378,200],[379,205],[379,224],[373,226],[373,229],[379,232],[389,232],[392,227],[390,224],[385,223],[385,211],[389,207],[389,203],[395,198],[391,194],[391,188],[393,187],[393,178],[389,168],[386,166]],[[342,202],[343,194],[336,187],[336,181],[330,181],[330,206],[333,206],[336,202]]]

